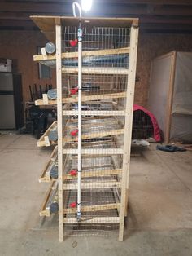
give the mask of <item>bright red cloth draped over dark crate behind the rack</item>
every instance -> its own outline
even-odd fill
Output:
[[[149,110],[147,110],[146,108],[143,108],[142,106],[133,105],[133,111],[137,111],[137,110],[142,110],[144,113],[146,113],[150,118],[151,118],[151,122],[153,124],[153,130],[154,130],[154,139],[156,142],[161,141],[161,133],[160,133],[160,128],[158,125],[158,122],[154,116],[154,114],[152,114]]]

